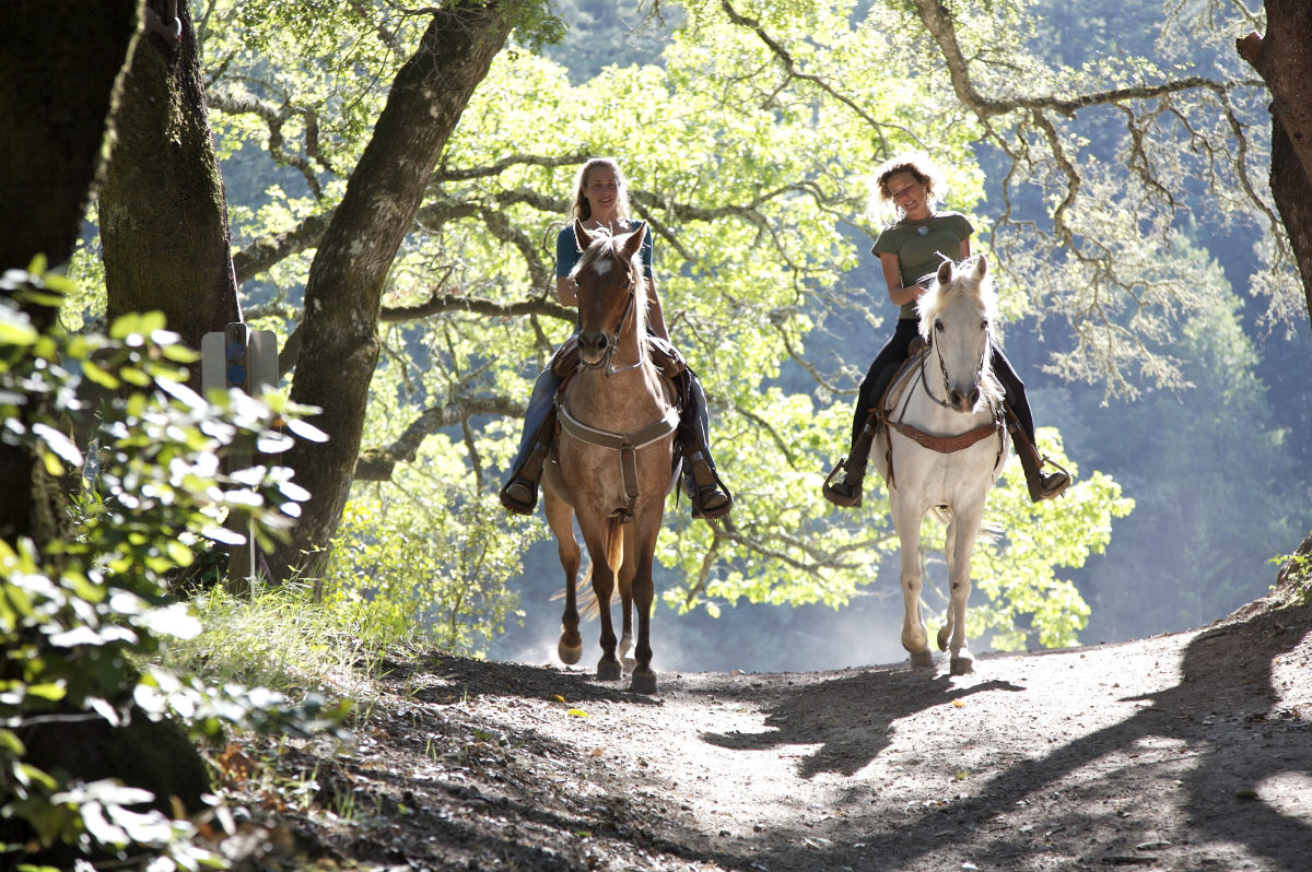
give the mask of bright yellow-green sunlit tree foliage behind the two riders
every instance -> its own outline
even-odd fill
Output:
[[[371,18],[306,33],[252,5],[260,4],[237,14],[237,5],[216,4],[203,45],[220,153],[258,176],[248,148],[261,143],[269,172],[281,165],[302,177],[281,172],[260,190],[228,185],[235,239],[255,256],[249,243],[295,237],[306,219],[332,208],[421,17],[378,5],[369,7]],[[668,597],[710,608],[744,599],[836,607],[895,547],[887,523],[870,521],[883,514],[878,500],[855,527],[819,492],[821,472],[842,452],[848,397],[867,363],[850,354],[836,362],[834,336],[870,345],[892,315],[850,277],[859,264],[853,237],[882,220],[865,215],[875,161],[909,148],[966,155],[977,131],[928,64],[922,77],[891,75],[917,49],[899,7],[876,4],[859,21],[844,3],[744,4],[735,13],[787,34],[792,66],[719,4],[689,4],[660,66],[609,66],[572,84],[560,66],[512,49],[475,93],[383,300],[366,442],[420,472],[357,483],[342,530],[344,569],[358,569],[358,559],[399,576],[356,598],[375,625],[391,623],[387,610],[395,618],[413,608],[413,591],[436,569],[413,535],[428,523],[420,506],[467,509],[432,526],[438,540],[474,543],[491,530],[476,509],[485,497],[471,492],[499,484],[488,468],[504,469],[513,452],[530,379],[572,329],[568,309],[550,302],[554,236],[573,173],[597,153],[621,156],[635,212],[653,231],[670,330],[707,388],[716,459],[739,498],[724,525],[672,519],[680,535],[664,538],[660,555],[673,578],[663,585]],[[395,39],[378,39],[383,33]],[[310,56],[333,75],[307,77]],[[363,69],[370,75],[352,75]],[[828,79],[832,71],[841,81]],[[817,87],[821,73],[834,84]],[[949,172],[949,206],[984,226],[974,215],[979,169],[962,160]],[[261,315],[295,317],[304,257],[276,260],[260,275],[268,282],[261,295],[277,288],[277,306]],[[1023,303],[1014,291],[1012,299]],[[409,315],[388,316],[401,311]],[[290,323],[261,325],[291,330]],[[422,450],[416,427],[428,434]],[[442,427],[450,429],[438,434]],[[441,458],[433,472],[428,458]],[[395,517],[405,505],[399,525],[370,522],[357,532],[369,514],[387,507]],[[487,569],[496,572],[487,580],[495,590],[517,564],[496,560]],[[485,615],[470,620],[496,627],[488,602]],[[450,635],[450,620],[446,627]]]

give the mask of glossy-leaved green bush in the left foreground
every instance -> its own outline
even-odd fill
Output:
[[[25,759],[24,736],[49,720],[181,717],[215,734],[226,724],[304,732],[340,720],[321,700],[293,704],[240,686],[215,688],[134,662],[169,637],[199,632],[168,578],[249,519],[268,540],[295,517],[302,493],[290,471],[256,467],[231,476],[219,455],[236,439],[282,450],[276,429],[314,434],[297,409],[274,410],[232,393],[210,404],[185,387],[194,353],[157,313],[115,321],[108,337],[42,334],[10,295],[58,303],[54,275],[10,271],[0,302],[0,405],[4,439],[52,477],[77,481],[84,456],[70,433],[92,431],[94,463],[72,506],[70,532],[43,552],[28,539],[0,542],[0,817],[30,825],[43,846],[126,858],[140,851],[177,863],[211,863],[194,830],[159,812],[131,810],[148,793],[108,782],[62,783]],[[20,409],[25,414],[20,416]],[[244,528],[244,525],[243,525]],[[324,720],[327,719],[327,720]],[[12,847],[7,850],[13,850]],[[12,859],[12,856],[9,858]]]

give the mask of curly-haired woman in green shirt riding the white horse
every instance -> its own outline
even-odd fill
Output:
[[[912,340],[920,336],[916,300],[929,287],[945,258],[963,261],[971,256],[971,235],[975,232],[960,212],[934,210],[943,182],[930,161],[895,157],[879,168],[878,184],[880,203],[893,203],[899,219],[879,233],[870,253],[879,256],[888,298],[899,307],[897,327],[861,382],[851,422],[851,451],[825,479],[824,496],[838,506],[861,505],[861,484],[878,424],[875,406],[897,367],[909,357]],[[997,346],[993,346],[993,372],[1006,391],[1008,429],[1021,456],[1030,498],[1038,502],[1060,496],[1071,484],[1071,476],[1063,471],[1043,472],[1044,460],[1034,447],[1034,417],[1025,384]]]

